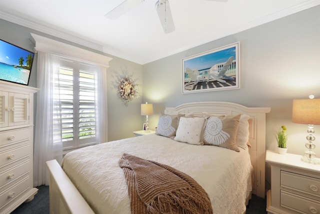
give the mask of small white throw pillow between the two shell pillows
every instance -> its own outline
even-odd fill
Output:
[[[176,130],[176,141],[203,145],[202,133],[206,119],[202,117],[180,117],[179,126]]]

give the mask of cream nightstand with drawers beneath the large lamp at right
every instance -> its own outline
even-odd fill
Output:
[[[268,213],[320,213],[320,165],[302,162],[301,155],[267,150],[271,165]]]

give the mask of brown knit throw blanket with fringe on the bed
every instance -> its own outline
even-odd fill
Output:
[[[204,189],[189,175],[155,161],[123,154],[132,214],[213,213]]]

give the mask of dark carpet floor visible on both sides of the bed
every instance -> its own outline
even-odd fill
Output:
[[[49,187],[41,185],[37,187],[38,193],[30,202],[22,203],[11,214],[48,214],[49,213]],[[252,194],[252,198],[246,208],[247,214],[266,213],[266,199]],[[226,212],[226,214],[229,214]],[[232,213],[237,214],[237,213]]]

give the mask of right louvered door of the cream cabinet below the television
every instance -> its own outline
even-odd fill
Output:
[[[8,93],[8,126],[29,124],[29,95]]]

